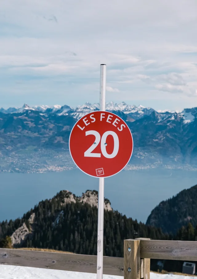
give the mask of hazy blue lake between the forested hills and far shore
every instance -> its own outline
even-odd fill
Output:
[[[159,202],[195,184],[195,171],[123,170],[105,179],[105,198],[114,210],[146,222]],[[52,198],[60,190],[81,195],[86,190],[98,190],[98,179],[78,169],[44,174],[1,173],[0,221],[22,217],[39,201]]]

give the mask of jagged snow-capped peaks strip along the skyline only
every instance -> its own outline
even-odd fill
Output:
[[[54,106],[47,106],[47,105],[37,105],[37,106],[32,106],[30,107],[27,104],[24,104],[21,108],[9,108],[9,109],[0,109],[0,112],[2,113],[22,113],[25,111],[40,111],[42,113],[53,113],[56,115],[70,115],[74,117],[75,119],[80,119],[87,113],[97,111],[99,110],[99,104],[90,104],[90,103],[85,103],[84,105],[79,105],[75,109],[71,108],[68,105],[54,105]],[[155,110],[152,108],[145,108],[142,105],[135,106],[135,105],[127,105],[125,102],[122,102],[120,104],[116,104],[114,102],[110,102],[106,104],[106,110],[110,112],[122,112],[126,114],[126,119],[127,121],[135,121],[138,120],[146,115],[150,115],[152,112]],[[181,119],[183,119],[185,124],[188,124],[192,121],[194,121],[195,117],[197,117],[197,108],[192,108],[192,109],[184,109],[183,111],[155,111],[158,115],[159,122],[163,121],[169,117],[173,120],[174,117],[179,116]]]

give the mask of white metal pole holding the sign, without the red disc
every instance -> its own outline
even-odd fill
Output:
[[[100,110],[105,111],[106,65],[100,65]],[[104,224],[104,177],[99,178],[98,190],[98,238],[97,279],[103,278],[103,224]]]

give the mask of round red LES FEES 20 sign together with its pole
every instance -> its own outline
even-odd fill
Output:
[[[100,110],[80,118],[69,138],[70,155],[84,173],[99,178],[97,279],[103,277],[104,178],[119,173],[133,152],[133,138],[122,118],[105,111],[106,65],[100,65]]]

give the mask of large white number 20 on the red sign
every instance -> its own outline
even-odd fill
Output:
[[[107,131],[103,134],[103,136],[101,138],[100,134],[97,131],[90,130],[90,131],[86,131],[86,136],[88,136],[88,135],[94,135],[95,142],[88,148],[88,150],[86,150],[84,152],[84,157],[101,157],[101,153],[91,153],[98,146],[100,140],[101,140],[101,152],[102,152],[103,156],[111,159],[111,158],[114,158],[118,154],[119,138],[115,132]],[[114,139],[114,150],[111,154],[107,153],[106,145],[105,145],[107,136],[109,136],[109,135],[111,135]]]

